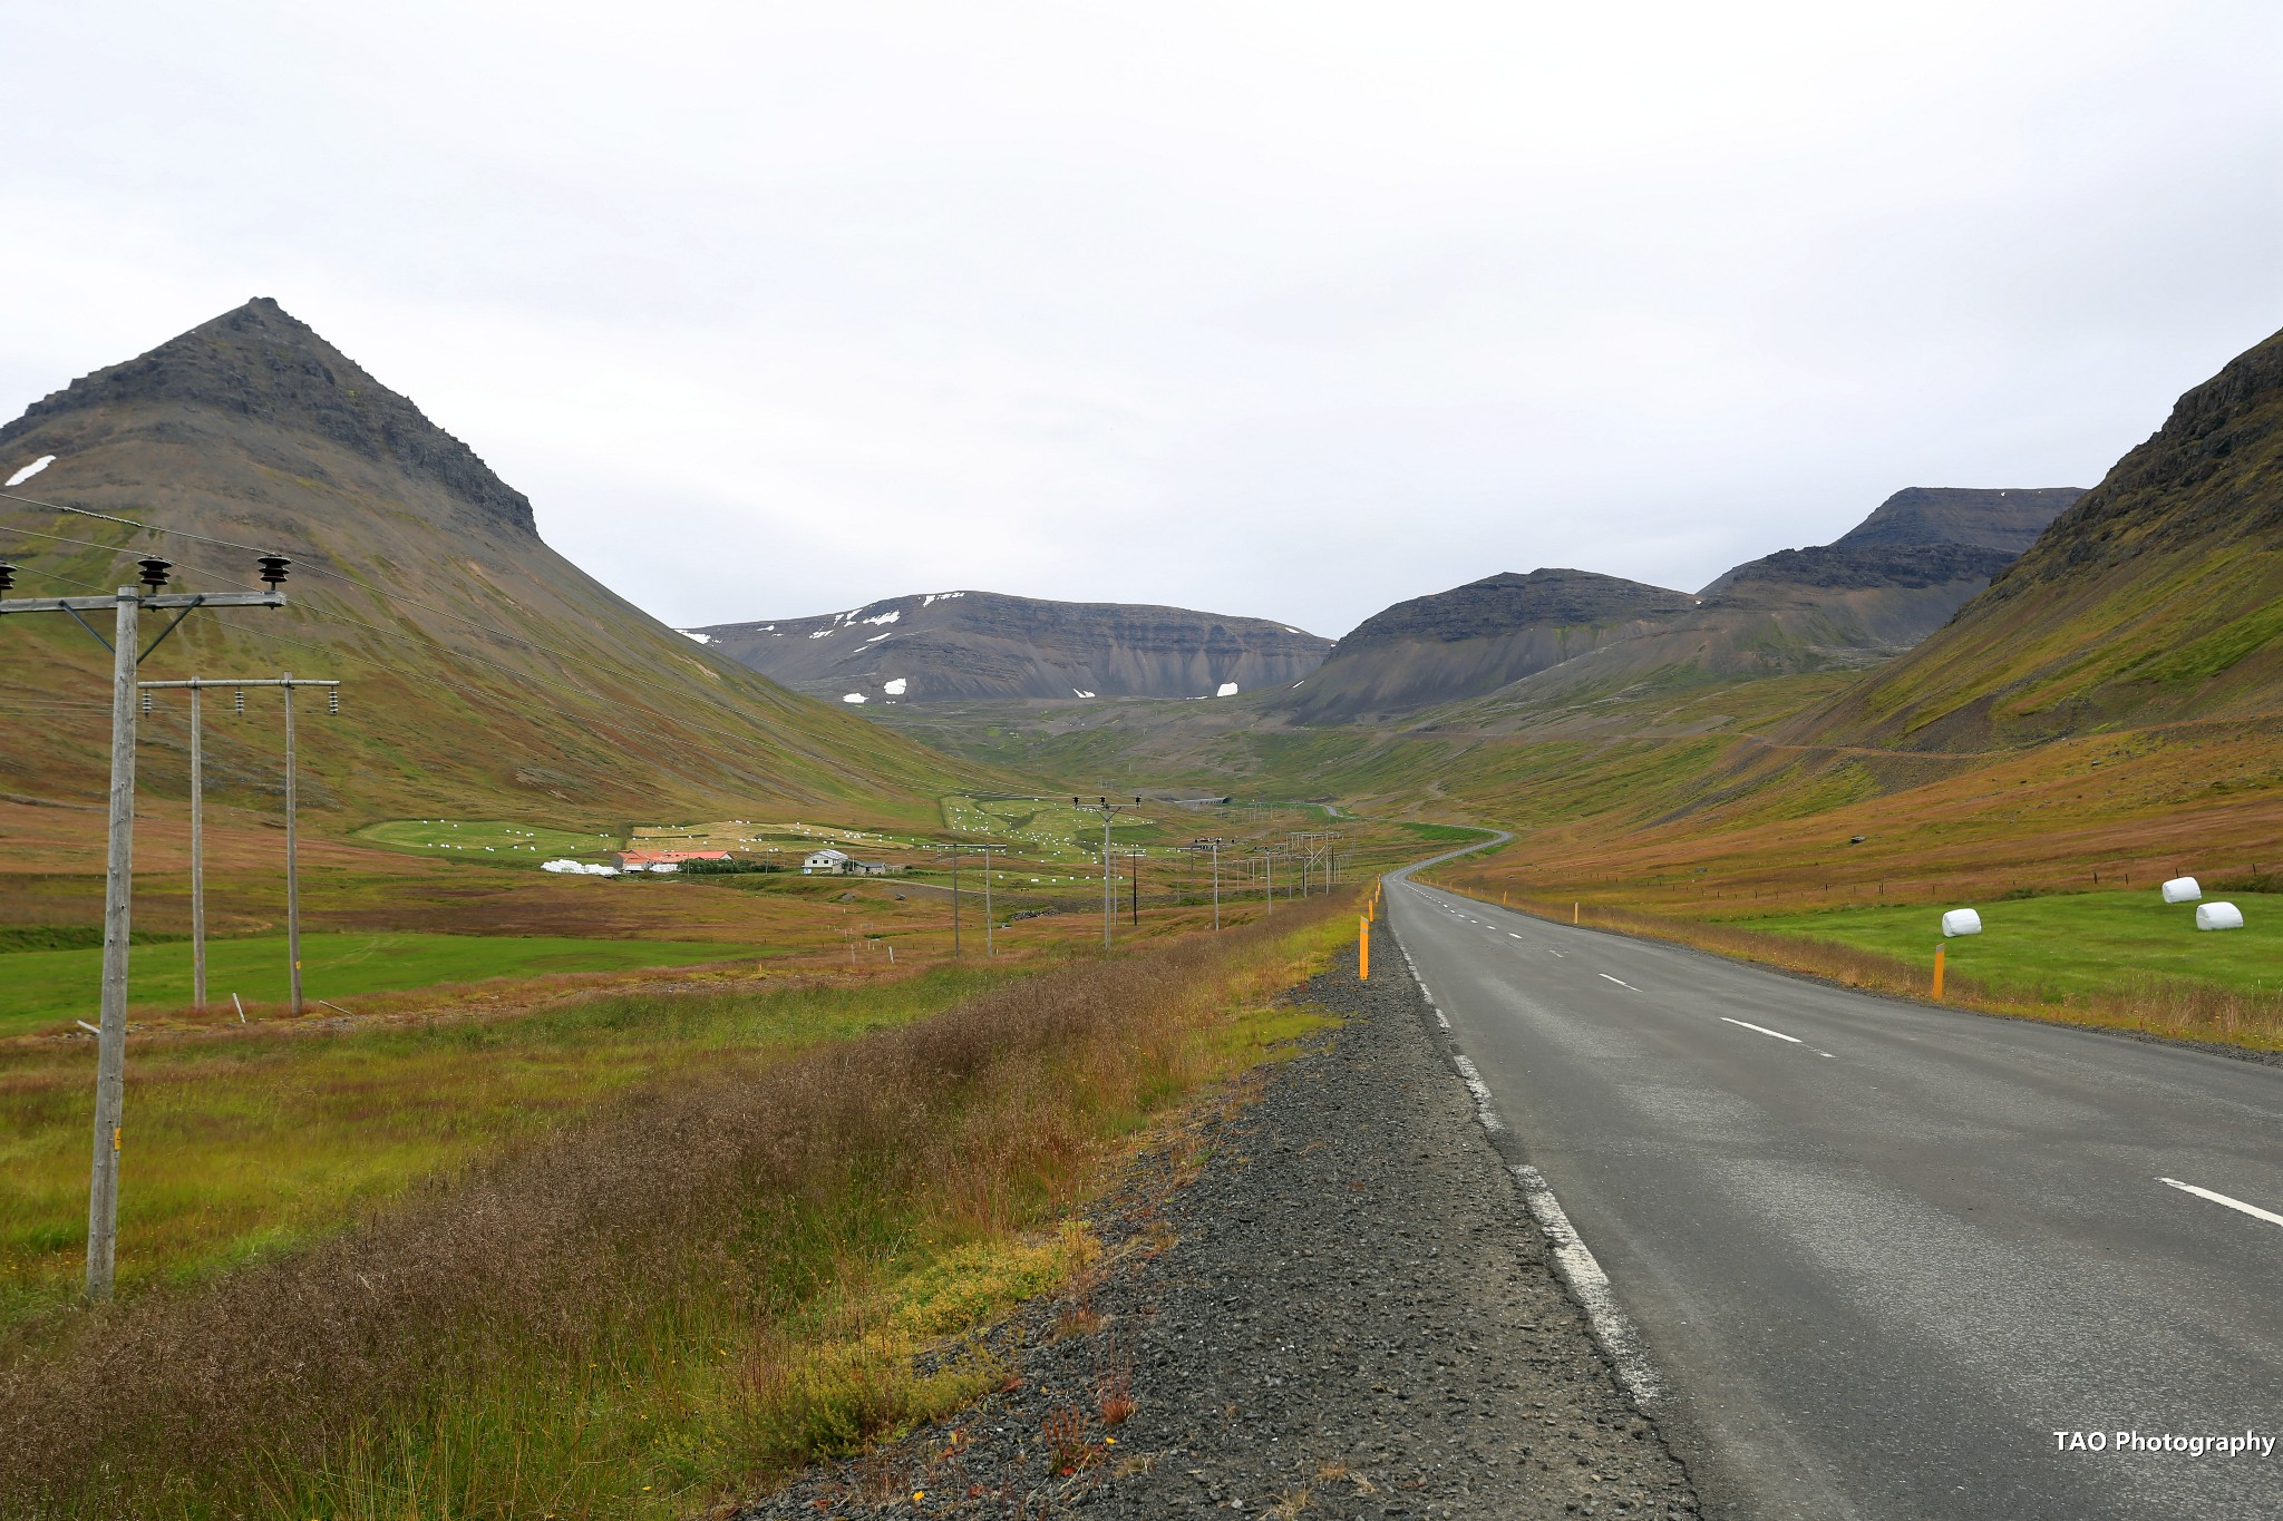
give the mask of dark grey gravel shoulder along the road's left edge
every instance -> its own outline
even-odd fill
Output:
[[[1399,946],[1372,951],[1368,985],[1347,953],[1294,994],[1336,1033],[1094,1211],[1103,1266],[991,1339],[1011,1389],[740,1514],[1694,1516]]]

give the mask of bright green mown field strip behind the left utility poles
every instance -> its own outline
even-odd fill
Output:
[[[687,967],[758,955],[719,940],[566,940],[541,935],[301,935],[301,985],[310,999],[354,999],[434,983],[475,983],[548,971],[626,971]],[[189,944],[135,946],[128,962],[132,1008],[189,1003]],[[205,946],[205,994],[228,1003],[276,1003],[288,997],[285,937],[212,940]],[[94,1019],[103,1001],[103,951],[16,951],[0,955],[0,1035]]]

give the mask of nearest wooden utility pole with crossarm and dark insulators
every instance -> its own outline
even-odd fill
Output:
[[[119,1250],[119,1131],[128,1067],[128,930],[135,896],[135,670],[201,607],[285,607],[283,554],[256,559],[267,591],[169,593],[171,561],[137,561],[142,588],[121,586],[110,597],[9,597],[16,566],[0,563],[0,613],[66,613],[112,652],[112,800],[103,860],[103,1019],[96,1028],[96,1136],[87,1186],[87,1298],[107,1300]],[[112,609],[112,636],[80,613]],[[144,609],[176,618],[148,645]]]

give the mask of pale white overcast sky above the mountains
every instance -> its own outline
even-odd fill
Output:
[[[2283,7],[14,5],[0,410],[276,296],[678,623],[1340,634],[2091,486],[2283,326]]]

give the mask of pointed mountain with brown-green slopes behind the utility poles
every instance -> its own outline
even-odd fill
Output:
[[[139,554],[176,561],[178,591],[251,584],[249,552],[178,534],[297,561],[290,609],[194,613],[144,675],[342,677],[342,716],[304,725],[301,794],[342,825],[429,810],[915,821],[973,784],[970,768],[797,698],[614,595],[539,538],[523,495],[466,445],[272,301],[0,429],[0,467],[41,454],[55,465],[18,497],[169,534],[0,502],[18,595],[110,591]],[[105,652],[62,616],[9,618],[0,648],[0,791],[100,798]],[[160,702],[174,718],[153,723],[146,791],[180,796],[183,698]],[[247,705],[233,723],[226,698],[208,702],[208,780],[269,803],[279,700]]]

